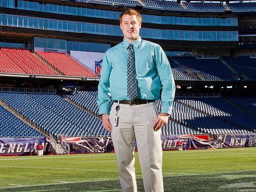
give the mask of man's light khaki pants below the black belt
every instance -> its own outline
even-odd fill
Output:
[[[110,112],[113,125],[117,103]],[[157,118],[155,102],[129,106],[120,104],[118,127],[113,127],[112,141],[117,157],[122,192],[137,192],[134,170],[136,138],[145,192],[163,192],[162,147],[160,130],[152,128]]]

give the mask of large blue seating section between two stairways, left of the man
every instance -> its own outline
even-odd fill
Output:
[[[53,94],[0,93],[0,98],[53,136],[108,136],[101,121]]]

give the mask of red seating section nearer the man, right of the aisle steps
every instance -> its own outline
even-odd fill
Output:
[[[50,53],[43,51],[37,51],[36,53],[64,75],[98,77],[93,71],[82,66],[65,53]]]

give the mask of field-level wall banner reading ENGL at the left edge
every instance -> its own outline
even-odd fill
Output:
[[[48,139],[37,138],[0,138],[0,155],[31,155],[36,154],[38,144],[44,146],[44,154],[52,152]]]

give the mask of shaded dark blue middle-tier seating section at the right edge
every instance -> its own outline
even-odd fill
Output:
[[[256,59],[248,56],[222,57],[236,71],[245,74],[250,80],[256,80]]]

